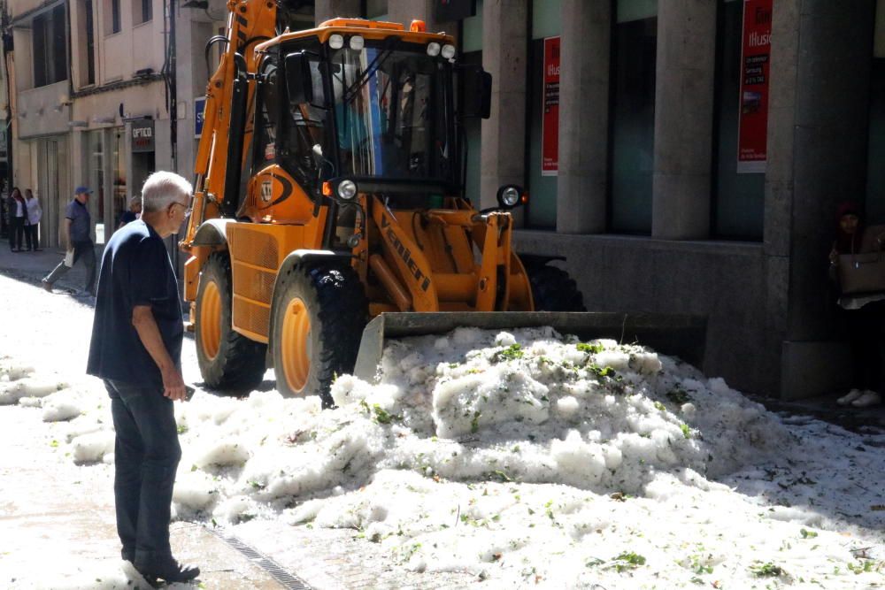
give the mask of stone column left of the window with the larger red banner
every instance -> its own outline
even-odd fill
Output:
[[[710,234],[716,4],[658,3],[651,221],[656,238]]]

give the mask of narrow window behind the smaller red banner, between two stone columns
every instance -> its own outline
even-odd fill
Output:
[[[551,138],[558,136],[558,121],[551,125],[553,118],[546,117],[545,111],[551,101],[558,98],[545,96],[544,84],[544,39],[558,37],[562,27],[560,21],[560,0],[535,0],[532,2],[532,39],[528,45],[528,92],[526,96],[526,110],[528,114],[526,144],[526,180],[528,201],[526,211],[526,223],[529,227],[554,229],[556,227],[556,196],[558,188],[557,172],[543,169],[544,138],[547,136],[547,145],[556,145]],[[556,56],[551,56],[550,66],[558,65],[558,50]],[[545,126],[546,123],[546,126]],[[550,154],[547,155],[550,157]]]

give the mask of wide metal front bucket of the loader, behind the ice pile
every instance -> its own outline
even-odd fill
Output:
[[[444,311],[382,313],[363,331],[353,374],[373,381],[389,339],[443,334],[457,327],[484,330],[551,326],[582,341],[611,338],[642,344],[701,367],[704,363],[707,320],[704,316],[659,313],[582,311]]]

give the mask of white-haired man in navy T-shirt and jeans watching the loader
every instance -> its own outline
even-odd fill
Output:
[[[154,172],[142,189],[142,218],[114,233],[98,279],[87,372],[104,379],[117,433],[114,498],[123,559],[149,583],[195,579],[169,545],[169,520],[181,446],[173,401],[181,378],[181,300],[164,238],[178,233],[191,186]]]

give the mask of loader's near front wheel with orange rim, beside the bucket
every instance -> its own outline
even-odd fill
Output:
[[[295,319],[298,314],[307,318],[306,326]],[[367,314],[362,283],[350,266],[296,264],[289,269],[273,291],[277,391],[287,397],[319,395],[323,407],[331,408],[332,382],[353,372]],[[302,354],[298,364],[295,359]]]

